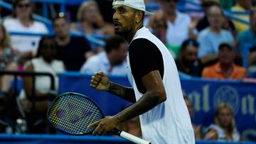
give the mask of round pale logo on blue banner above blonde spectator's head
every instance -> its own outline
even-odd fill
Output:
[[[222,102],[230,104],[233,107],[234,114],[238,113],[240,99],[236,89],[228,85],[219,87],[214,94],[213,104],[216,108]]]

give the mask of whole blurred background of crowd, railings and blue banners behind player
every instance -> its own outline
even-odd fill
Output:
[[[256,143],[256,1],[145,4],[154,15],[144,26],[176,61],[196,143]],[[130,105],[90,88],[100,70],[130,86],[128,45],[114,35],[112,1],[0,0],[0,21],[0,143],[130,143],[66,135],[46,117],[64,92],[89,96],[106,116]],[[139,117],[119,128],[142,136]]]

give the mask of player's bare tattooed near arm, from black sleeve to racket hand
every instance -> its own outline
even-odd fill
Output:
[[[107,131],[112,130],[112,128],[118,126],[119,123],[134,118],[135,116],[139,116],[166,100],[164,84],[158,70],[154,70],[149,72],[149,74],[146,74],[142,78],[142,82],[146,87],[146,93],[142,98],[132,104],[132,106],[124,109],[124,111],[117,113],[117,115],[107,116],[106,118],[102,118],[100,121],[90,124],[89,127],[97,126],[95,131],[92,133],[93,135],[105,135]]]

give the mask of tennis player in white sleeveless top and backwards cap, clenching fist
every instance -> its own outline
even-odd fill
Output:
[[[115,116],[108,116],[89,127],[93,134],[104,135],[135,116],[139,116],[142,137],[153,144],[195,143],[188,109],[183,100],[174,58],[165,45],[143,26],[143,0],[114,0],[114,30],[129,43],[127,70],[132,88],[110,82],[96,72],[90,86],[115,94],[134,104]]]

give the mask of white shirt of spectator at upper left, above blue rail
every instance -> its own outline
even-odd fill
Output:
[[[4,26],[8,32],[18,33],[48,33],[45,24],[33,21],[31,26],[23,26],[18,18],[6,18]],[[11,45],[20,52],[34,51],[38,48],[40,36],[11,35]]]

